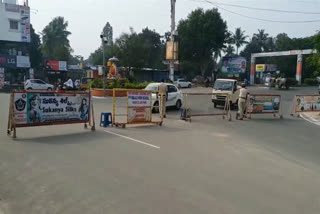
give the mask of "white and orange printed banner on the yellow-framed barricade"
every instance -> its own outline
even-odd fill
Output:
[[[151,92],[128,91],[128,123],[151,122]]]

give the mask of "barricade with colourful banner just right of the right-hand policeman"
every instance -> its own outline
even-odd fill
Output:
[[[281,96],[276,94],[250,94],[248,96],[246,115],[252,119],[253,114],[272,114],[283,118],[281,113]]]

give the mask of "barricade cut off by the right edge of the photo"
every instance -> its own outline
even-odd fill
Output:
[[[293,100],[292,116],[300,113],[320,112],[320,95],[296,95]]]

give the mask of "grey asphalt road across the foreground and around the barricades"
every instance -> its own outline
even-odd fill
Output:
[[[290,116],[293,96],[317,89],[250,91],[280,93],[285,118],[188,123],[171,110],[162,127],[28,128],[15,141],[0,94],[0,213],[319,213],[320,127]],[[112,108],[94,104],[97,117]]]

